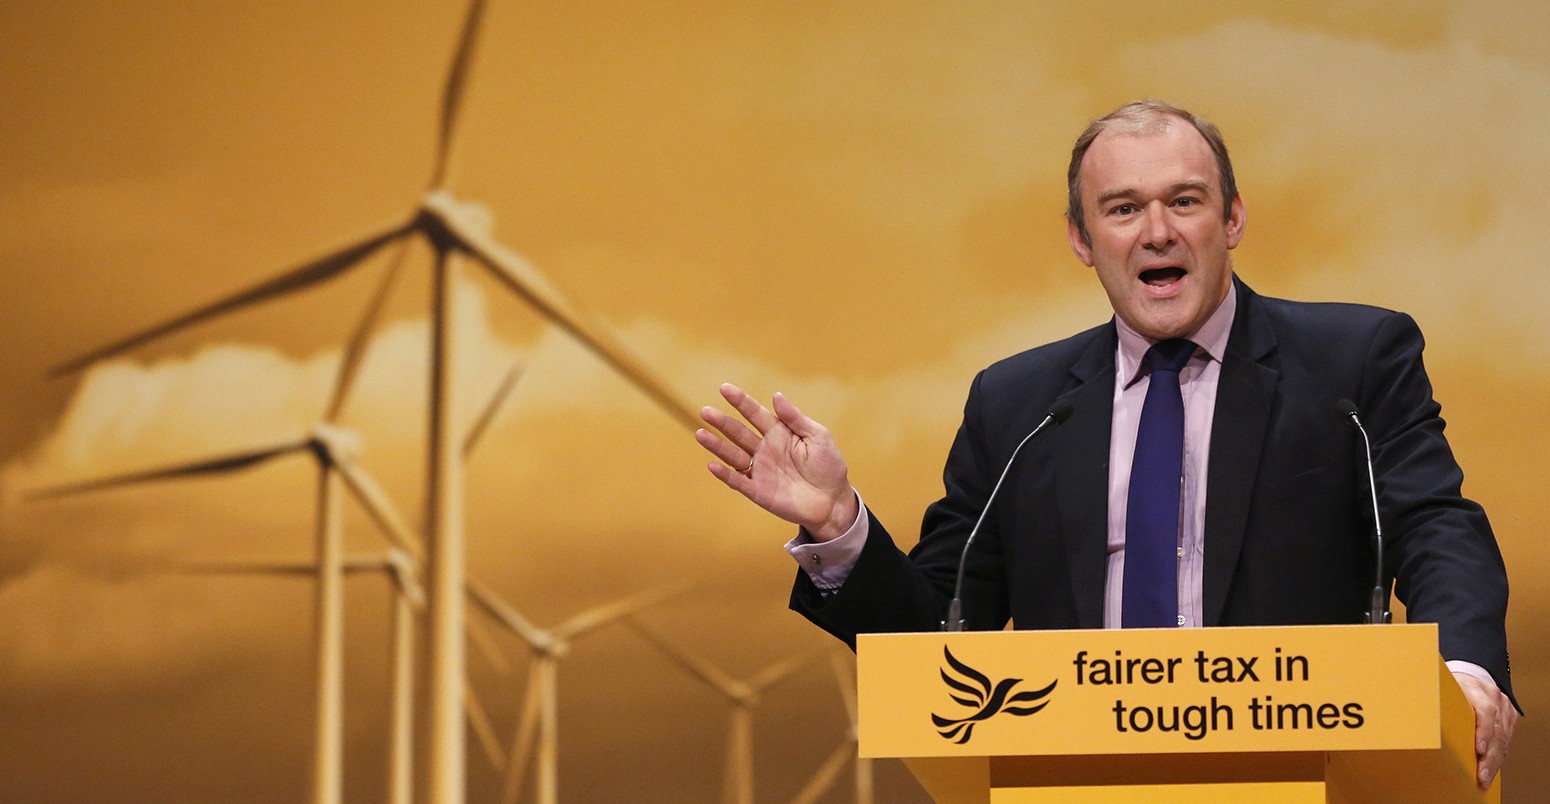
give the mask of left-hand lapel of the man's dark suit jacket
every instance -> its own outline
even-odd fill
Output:
[[[1108,431],[1114,418],[1114,327],[1088,344],[1071,366],[1062,398],[1071,420],[1052,435],[1056,500],[1065,541],[1077,627],[1104,627],[1104,576],[1108,572]]]

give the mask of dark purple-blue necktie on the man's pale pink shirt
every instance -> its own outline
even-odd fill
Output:
[[[1124,627],[1178,626],[1178,507],[1184,479],[1184,398],[1178,372],[1195,355],[1183,338],[1147,350],[1152,367],[1141,406],[1125,510]]]

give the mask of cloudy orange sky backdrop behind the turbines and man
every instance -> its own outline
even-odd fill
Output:
[[[693,401],[724,380],[787,392],[908,533],[973,372],[1108,314],[1065,242],[1071,138],[1141,96],[1211,118],[1249,211],[1240,276],[1401,308],[1426,332],[1465,491],[1513,581],[1531,717],[1507,799],[1550,785],[1534,767],[1550,751],[1534,716],[1550,691],[1550,11],[831,6],[493,0],[451,186]],[[43,375],[406,215],[460,17],[361,0],[0,6],[0,798],[305,790],[308,586],[155,570],[308,555],[308,465],[19,494],[318,421],[380,259],[84,376]],[[425,254],[411,262],[346,424],[417,516],[428,274]],[[735,675],[826,644],[784,610],[787,528],[719,490],[680,424],[494,285],[470,280],[463,302],[463,420],[524,369],[470,463],[476,572],[539,624],[705,578],[648,618]],[[377,544],[358,511],[347,527],[352,547]],[[349,596],[347,798],[375,801],[388,587],[358,578]],[[505,733],[521,665],[471,668]],[[580,641],[561,685],[566,801],[716,799],[727,708],[642,640]],[[758,717],[761,799],[783,801],[842,739],[826,668]],[[480,762],[476,799],[498,785]],[[882,785],[918,795],[902,771]]]

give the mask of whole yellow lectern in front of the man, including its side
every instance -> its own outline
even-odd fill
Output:
[[[865,634],[860,756],[939,802],[1496,802],[1437,626]]]

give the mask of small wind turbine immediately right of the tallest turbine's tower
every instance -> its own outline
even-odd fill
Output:
[[[645,592],[615,603],[594,606],[572,615],[550,629],[535,626],[515,606],[496,595],[490,587],[468,579],[473,600],[508,630],[516,634],[532,651],[527,689],[522,696],[522,713],[518,717],[516,734],[512,739],[512,758],[507,762],[502,801],[515,804],[522,792],[527,762],[535,753],[538,759],[536,795],[541,804],[555,804],[560,790],[560,660],[570,652],[570,643],[578,637],[611,623],[682,595],[688,584],[673,584]]]

